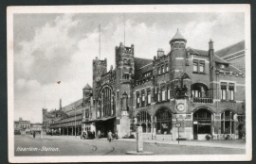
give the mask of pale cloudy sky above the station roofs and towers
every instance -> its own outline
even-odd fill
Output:
[[[99,25],[101,25],[101,56]],[[125,26],[125,27],[124,27]],[[124,30],[125,29],[125,30]],[[244,13],[14,14],[14,120],[42,122],[42,108],[58,109],[92,86],[92,60],[115,68],[115,47],[135,45],[135,57],[171,50],[177,29],[187,47],[215,51],[245,40]],[[124,37],[125,31],[125,37]],[[125,38],[125,41],[124,41]],[[61,81],[60,84],[57,81]]]

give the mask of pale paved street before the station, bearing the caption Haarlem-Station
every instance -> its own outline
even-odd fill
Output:
[[[80,139],[73,136],[15,136],[15,156],[115,156],[136,151],[136,139]],[[245,154],[245,140],[145,140],[144,151],[155,155]],[[125,155],[126,156],[126,155]],[[128,155],[127,155],[128,156]]]

